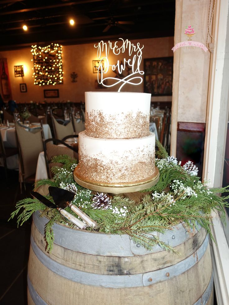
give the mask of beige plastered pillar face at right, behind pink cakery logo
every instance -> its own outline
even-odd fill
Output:
[[[209,0],[176,2],[174,44],[187,41],[184,34],[187,25],[194,26],[192,41],[206,44],[208,9]],[[176,52],[174,56],[179,56],[175,58],[179,75],[174,78],[176,84],[173,84],[179,86],[178,95],[174,96],[179,105],[177,121],[206,122],[210,53],[197,47],[182,47]]]

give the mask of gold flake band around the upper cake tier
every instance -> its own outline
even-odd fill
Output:
[[[85,133],[103,139],[130,139],[149,135],[149,115],[140,111],[134,114],[104,115],[100,110],[86,112]]]

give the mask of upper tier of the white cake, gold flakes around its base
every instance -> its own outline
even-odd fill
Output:
[[[151,94],[85,92],[86,135],[129,139],[149,135]]]

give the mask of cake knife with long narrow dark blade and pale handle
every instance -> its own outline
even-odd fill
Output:
[[[32,196],[34,196],[36,199],[38,199],[40,202],[42,202],[45,206],[48,206],[49,208],[52,208],[52,209],[57,209],[61,215],[63,215],[68,220],[70,220],[73,224],[77,225],[77,227],[79,227],[80,229],[84,230],[88,227],[87,224],[83,223],[81,220],[79,220],[72,214],[68,213],[63,208],[54,205],[50,200],[48,200],[47,198],[42,196],[40,193],[31,191],[30,194]]]

